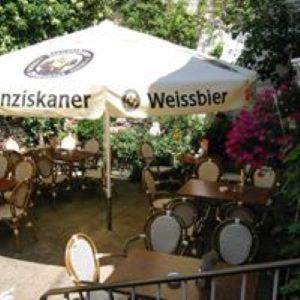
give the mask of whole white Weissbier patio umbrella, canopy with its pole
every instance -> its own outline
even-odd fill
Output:
[[[110,21],[3,55],[0,76],[2,115],[96,119],[106,112],[110,208],[110,116],[233,110],[247,103],[255,80],[252,71]]]

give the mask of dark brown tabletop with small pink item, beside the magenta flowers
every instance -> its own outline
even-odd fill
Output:
[[[176,193],[185,197],[205,198],[212,202],[240,201],[249,205],[266,205],[270,196],[269,189],[200,179],[190,179]]]

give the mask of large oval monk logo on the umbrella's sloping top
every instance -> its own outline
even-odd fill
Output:
[[[34,78],[53,78],[73,73],[93,58],[93,53],[83,49],[55,51],[42,55],[31,62],[25,69],[25,75]]]

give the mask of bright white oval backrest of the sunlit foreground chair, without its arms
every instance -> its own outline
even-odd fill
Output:
[[[89,236],[77,233],[70,238],[65,250],[65,265],[75,284],[100,280],[100,266],[96,254],[97,248]]]

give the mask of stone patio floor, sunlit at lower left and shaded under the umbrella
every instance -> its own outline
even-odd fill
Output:
[[[97,189],[62,191],[54,207],[46,195],[41,197],[34,210],[38,241],[34,241],[30,230],[23,230],[19,253],[12,232],[1,230],[0,299],[1,293],[11,287],[16,289],[15,299],[31,300],[38,299],[39,293],[50,287],[49,282],[54,286],[59,282],[70,285],[62,266],[66,243],[76,232],[90,235],[99,252],[122,251],[128,238],[142,232],[148,207],[137,183],[117,181],[114,194],[112,231],[106,229],[105,196]]]

